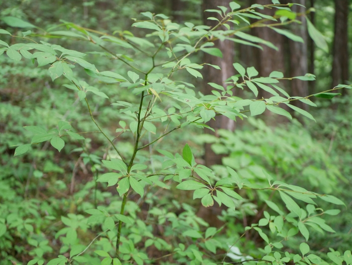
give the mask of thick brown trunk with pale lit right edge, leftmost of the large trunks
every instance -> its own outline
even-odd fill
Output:
[[[225,6],[229,8],[229,3],[231,0],[217,0],[209,1],[203,0],[203,10],[207,9],[218,9],[217,6]],[[208,20],[208,17],[213,17],[214,13],[204,13],[204,24],[214,27],[217,25],[216,21]],[[220,17],[218,17],[221,20]],[[225,28],[224,28],[225,29]],[[211,91],[214,90],[208,83],[216,83],[225,86],[225,80],[234,75],[234,68],[232,66],[234,57],[234,43],[232,41],[215,41],[214,47],[219,48],[222,51],[223,58],[212,56],[208,53],[204,53],[203,61],[219,65],[221,71],[216,70],[209,65],[204,66],[203,77],[204,77],[204,89],[203,93],[206,95],[212,94]],[[226,86],[225,86],[226,87]],[[210,120],[209,126],[215,129],[215,135],[217,135],[217,130],[220,128],[234,130],[235,122],[230,120],[225,116],[216,116],[216,120]],[[206,129],[207,133],[214,134],[212,131]],[[206,166],[211,166],[214,164],[221,164],[221,156],[216,155],[211,150],[211,145],[206,144],[205,146],[205,164]]]

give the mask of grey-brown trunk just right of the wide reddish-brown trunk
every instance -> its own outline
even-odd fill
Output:
[[[306,0],[295,0],[293,3],[306,6]],[[294,5],[292,11],[297,13],[305,13],[306,9],[302,6]],[[304,76],[308,73],[308,32],[307,32],[307,21],[303,16],[296,18],[302,24],[294,24],[292,26],[292,32],[303,38],[304,43],[289,40],[290,48],[290,74],[292,77]],[[299,79],[291,81],[292,96],[305,97],[308,95],[308,82]],[[293,101],[297,107],[308,110],[308,105],[301,101]]]

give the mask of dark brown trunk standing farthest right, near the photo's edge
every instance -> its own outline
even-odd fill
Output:
[[[348,80],[348,0],[335,0],[335,36],[333,41],[332,84],[345,84]]]

